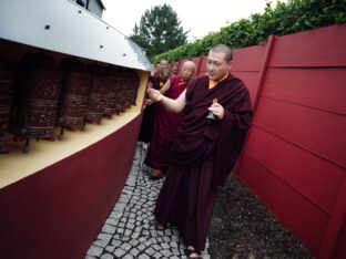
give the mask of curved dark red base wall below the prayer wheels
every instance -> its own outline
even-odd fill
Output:
[[[131,169],[141,116],[0,189],[0,258],[83,258]]]

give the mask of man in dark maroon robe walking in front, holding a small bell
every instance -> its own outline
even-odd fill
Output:
[[[244,83],[230,74],[231,64],[231,49],[218,44],[208,52],[207,75],[192,82],[176,100],[147,91],[153,101],[184,113],[154,215],[156,229],[179,228],[189,258],[201,258],[217,186],[235,165],[251,124],[250,94]]]

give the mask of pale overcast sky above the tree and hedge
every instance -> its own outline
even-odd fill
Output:
[[[287,2],[287,0],[282,0]],[[102,0],[105,6],[102,20],[125,35],[140,24],[145,10],[167,3],[176,12],[184,31],[190,30],[189,40],[201,39],[211,31],[218,31],[241,18],[252,13],[263,13],[265,0]],[[269,0],[275,7],[276,0]]]

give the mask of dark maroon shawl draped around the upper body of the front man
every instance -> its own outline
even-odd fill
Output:
[[[216,99],[224,107],[223,120],[206,120],[208,107]],[[244,83],[232,74],[208,89],[208,76],[194,82],[186,92],[184,117],[173,145],[172,159],[184,168],[214,157],[214,187],[223,185],[240,155],[251,124],[252,105]]]

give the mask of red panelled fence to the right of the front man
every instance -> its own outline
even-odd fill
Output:
[[[256,103],[237,175],[319,258],[346,257],[345,32],[343,24],[276,37],[265,56],[262,46],[236,52],[244,71],[235,74]],[[256,54],[268,60],[262,83]]]

